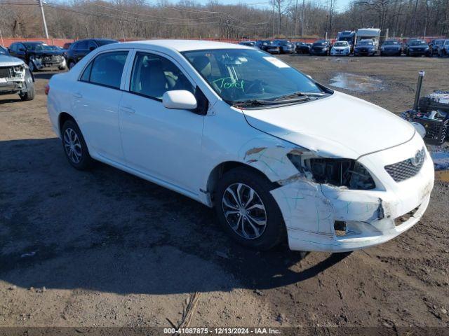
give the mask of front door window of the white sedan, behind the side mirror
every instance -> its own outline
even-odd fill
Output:
[[[161,100],[166,91],[195,89],[184,73],[171,61],[159,55],[137,52],[130,92]]]

